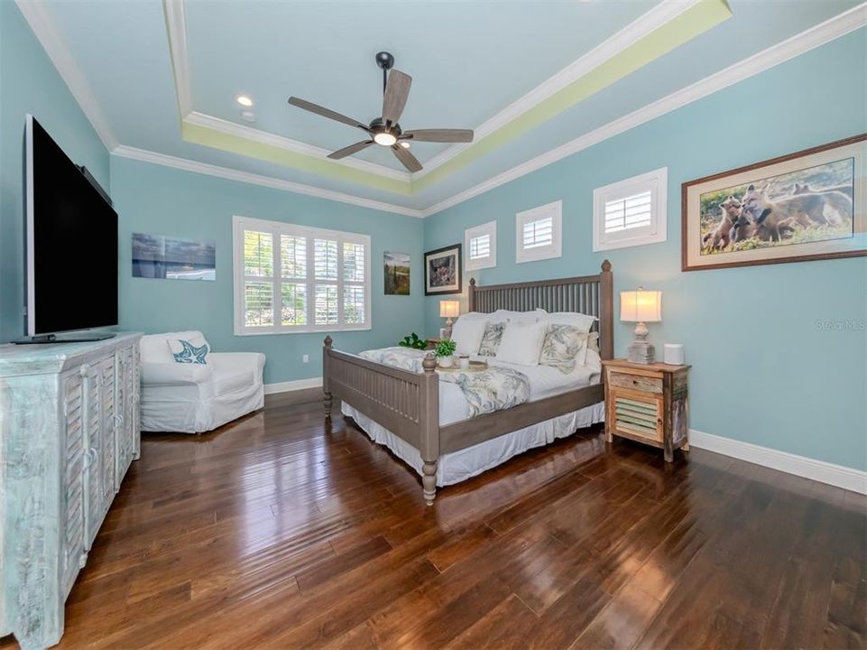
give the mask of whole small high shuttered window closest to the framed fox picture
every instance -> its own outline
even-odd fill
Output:
[[[593,249],[665,241],[668,169],[619,181],[593,192]]]

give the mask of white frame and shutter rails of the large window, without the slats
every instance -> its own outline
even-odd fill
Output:
[[[355,286],[364,286],[364,316],[365,322],[361,325],[315,325],[313,324],[313,312],[315,310],[315,292],[310,289],[316,284],[315,278],[307,277],[305,279],[308,287],[308,323],[306,325],[281,325],[275,324],[270,327],[250,328],[244,325],[244,230],[258,230],[260,232],[270,232],[274,236],[274,265],[273,279],[268,282],[273,283],[273,304],[275,314],[279,309],[281,284],[281,248],[280,236],[289,235],[291,237],[307,237],[312,238],[331,238],[337,239],[337,280],[334,284],[337,285],[337,318],[343,320],[343,300],[341,299],[341,291],[345,285],[341,274],[340,260],[343,256],[342,249],[344,243],[361,244],[364,246],[364,282],[350,282]],[[345,232],[342,230],[330,230],[327,228],[314,228],[312,226],[300,226],[299,224],[291,224],[284,221],[272,221],[270,219],[260,219],[252,217],[243,217],[234,215],[232,217],[232,278],[234,281],[233,293],[233,320],[235,324],[235,336],[264,336],[275,334],[309,334],[311,332],[329,332],[329,331],[365,331],[373,329],[373,311],[371,309],[372,288],[371,288],[371,238],[369,235],[361,233]],[[308,261],[309,265],[313,264],[312,260]],[[287,283],[297,284],[297,280],[286,278]],[[325,283],[332,283],[327,281]]]

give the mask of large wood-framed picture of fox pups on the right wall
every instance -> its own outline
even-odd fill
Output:
[[[684,271],[867,255],[867,134],[689,181]]]

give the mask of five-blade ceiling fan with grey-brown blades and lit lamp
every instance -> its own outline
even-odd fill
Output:
[[[292,106],[309,110],[311,113],[337,120],[337,122],[343,122],[346,125],[355,126],[369,136],[370,139],[368,140],[362,140],[336,152],[329,153],[328,158],[339,160],[353,153],[358,153],[371,144],[381,144],[382,146],[390,147],[394,156],[410,172],[419,172],[421,170],[421,163],[410,153],[410,142],[473,142],[472,129],[416,129],[414,131],[404,131],[401,129],[398,120],[401,118],[403,107],[406,105],[406,100],[410,95],[412,78],[410,75],[401,72],[401,70],[392,70],[394,57],[389,52],[379,52],[376,55],[376,65],[383,70],[383,115],[376,117],[368,125],[304,99],[289,98],[289,103]]]

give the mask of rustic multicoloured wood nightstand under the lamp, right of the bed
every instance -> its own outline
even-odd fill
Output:
[[[659,447],[666,462],[689,450],[689,366],[602,362],[605,373],[605,440],[613,436]]]

